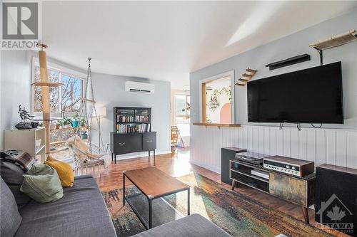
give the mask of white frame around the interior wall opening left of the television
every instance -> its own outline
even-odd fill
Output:
[[[232,124],[236,124],[236,120],[235,120],[235,107],[236,107],[236,103],[235,103],[235,91],[236,91],[236,87],[235,87],[235,76],[234,76],[235,72],[234,70],[230,70],[228,72],[225,73],[221,73],[218,75],[213,75],[209,78],[203,78],[201,80],[199,80],[199,110],[200,110],[200,117],[199,117],[199,121],[206,123],[206,106],[205,111],[203,111],[203,103],[206,105],[206,94],[204,94],[204,98],[203,98],[203,90],[206,90],[206,83],[211,82],[212,80],[217,80],[217,79],[221,79],[221,78],[226,78],[228,76],[231,77],[231,123]]]

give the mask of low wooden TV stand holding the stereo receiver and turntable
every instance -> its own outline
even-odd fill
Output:
[[[264,179],[251,174],[253,169],[258,169],[269,174],[269,179]],[[263,191],[280,199],[301,206],[305,222],[308,220],[308,206],[315,204],[315,173],[306,177],[293,177],[288,174],[264,169],[259,165],[231,159],[229,162],[229,178],[232,179],[232,190],[237,184],[244,184],[253,189]]]

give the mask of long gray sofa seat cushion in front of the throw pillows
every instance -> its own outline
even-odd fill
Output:
[[[93,177],[76,177],[59,201],[31,201],[21,209],[15,236],[116,236],[104,199]]]

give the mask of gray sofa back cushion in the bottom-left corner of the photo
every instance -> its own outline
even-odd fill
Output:
[[[0,177],[0,219],[1,236],[14,236],[21,224],[21,216],[17,210],[14,195],[11,193],[5,181]]]

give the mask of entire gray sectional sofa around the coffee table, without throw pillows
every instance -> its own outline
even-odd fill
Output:
[[[12,172],[14,169],[16,167],[11,167]],[[9,169],[1,170],[4,173],[9,171]],[[16,192],[19,185],[13,185],[21,180],[16,181],[7,177],[7,184],[2,178],[0,181],[2,231],[0,236],[116,236],[101,191],[95,179],[89,175],[76,177],[73,187],[64,188],[63,198],[46,204],[34,200],[24,201],[24,196]],[[149,236],[226,237],[229,235],[206,218],[193,214],[136,235],[136,237]]]

